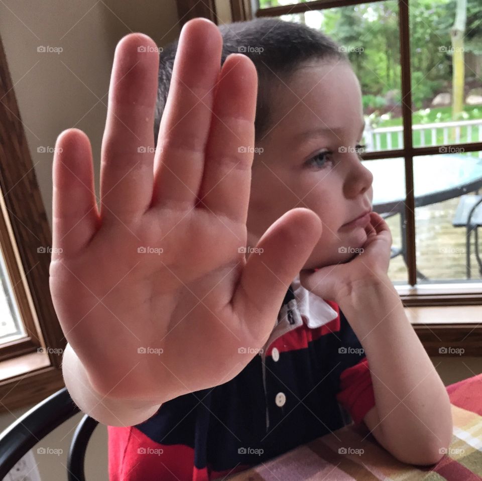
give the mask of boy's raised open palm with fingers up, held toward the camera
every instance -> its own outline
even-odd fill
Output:
[[[220,69],[221,47],[212,22],[184,25],[154,152],[157,46],[119,41],[100,211],[88,137],[56,142],[50,289],[92,386],[112,398],[164,402],[235,377],[321,235],[314,212],[293,209],[246,260],[257,72],[242,54]]]

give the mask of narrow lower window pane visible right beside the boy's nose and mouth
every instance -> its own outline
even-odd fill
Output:
[[[388,275],[394,284],[407,284],[404,159],[365,160],[363,164],[373,174],[373,210],[385,218],[392,232]]]

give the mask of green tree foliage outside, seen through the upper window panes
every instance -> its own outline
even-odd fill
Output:
[[[292,3],[305,1],[293,0]],[[260,5],[267,8],[278,6],[279,3],[278,0],[260,0]],[[450,29],[455,10],[456,0],[412,0],[409,3],[412,100],[415,108],[421,109],[438,93],[451,90]],[[388,91],[397,92],[395,103],[399,104],[401,66],[398,0],[325,9],[322,14],[319,28],[345,48],[364,93],[364,108],[375,108],[380,110],[380,114],[391,110],[393,100],[387,103],[384,98]],[[308,15],[309,12],[284,18],[305,22]],[[480,0],[467,0],[464,49],[465,52],[482,56]],[[465,75],[473,77],[475,74],[466,68]],[[450,110],[450,107],[446,107],[444,118]],[[471,111],[471,106],[467,111]]]

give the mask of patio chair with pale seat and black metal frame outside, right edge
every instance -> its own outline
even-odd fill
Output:
[[[470,269],[470,237],[474,233],[475,259],[478,263],[478,271],[482,276],[482,260],[478,251],[478,227],[482,227],[482,195],[466,194],[460,197],[460,201],[452,219],[454,227],[465,227],[465,255],[467,279],[471,278]]]

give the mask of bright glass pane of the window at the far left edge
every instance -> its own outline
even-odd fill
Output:
[[[0,344],[2,344],[25,336],[2,251],[0,251],[0,279],[2,281],[2,291],[0,292]]]

